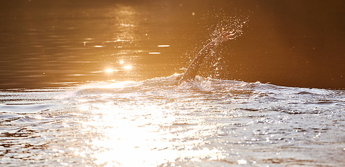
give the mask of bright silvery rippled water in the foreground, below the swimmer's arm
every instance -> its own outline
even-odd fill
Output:
[[[344,90],[176,77],[3,91],[0,164],[344,164]]]

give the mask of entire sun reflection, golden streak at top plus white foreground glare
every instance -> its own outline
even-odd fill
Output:
[[[111,54],[113,62],[109,62],[101,72],[113,75],[134,71],[136,64],[131,58],[141,50],[134,53],[128,48],[136,46],[140,40],[140,35],[134,31],[140,27],[136,10],[130,6],[118,6],[108,16],[114,17],[111,19],[114,36],[104,45],[94,47],[106,49],[112,45],[111,48],[115,47],[118,52]],[[148,51],[148,54],[161,52]],[[164,97],[153,96],[155,98],[152,99],[156,92],[150,92],[151,88],[148,91],[133,90],[141,84],[113,81],[81,88],[92,93],[81,93],[77,100],[78,110],[90,113],[89,119],[80,120],[83,127],[80,133],[91,136],[84,141],[88,148],[71,148],[74,155],[90,157],[93,163],[105,166],[178,166],[184,161],[213,161],[226,157],[227,153],[221,148],[208,147],[206,136],[213,136],[216,125],[176,114],[178,109],[174,108],[180,103],[166,102]],[[126,88],[131,90],[127,92]]]

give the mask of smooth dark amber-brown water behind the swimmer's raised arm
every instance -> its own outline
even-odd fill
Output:
[[[343,1],[1,1],[0,88],[182,73],[222,28],[243,34],[203,77],[344,89]],[[219,60],[218,60],[219,59]]]

